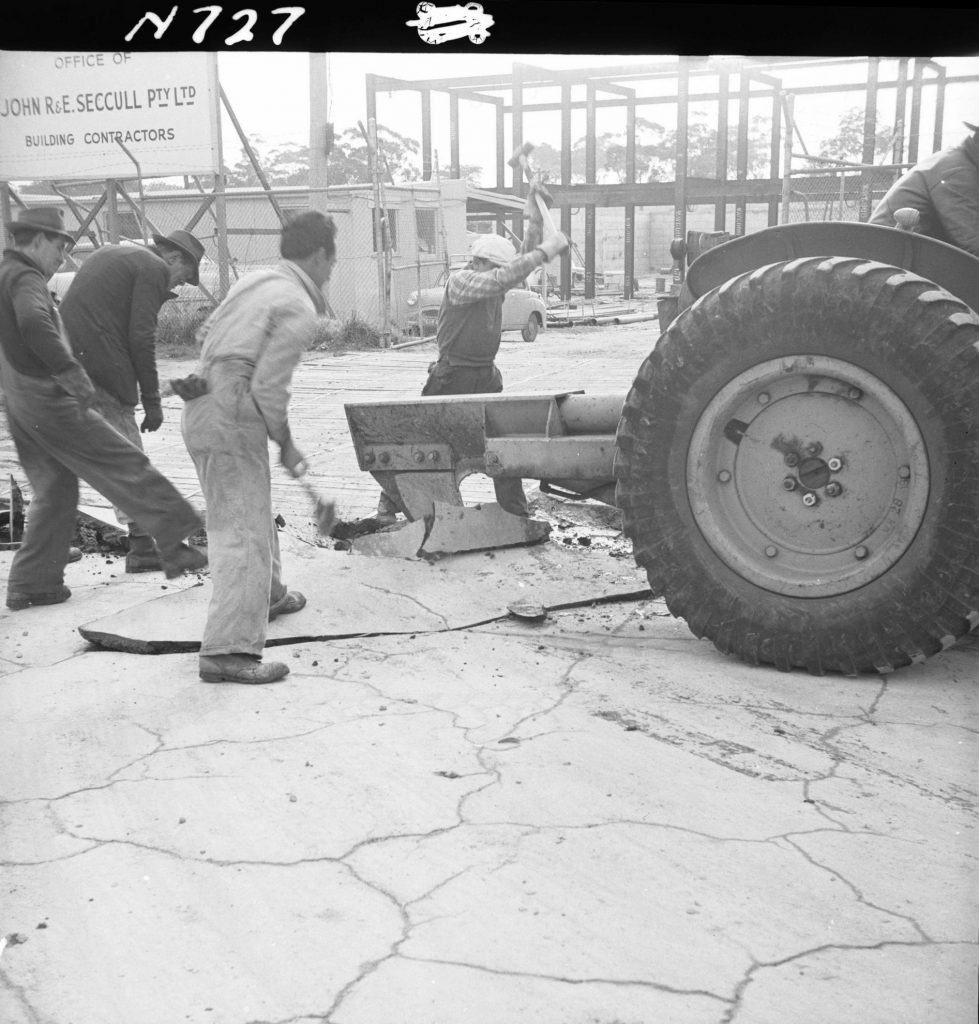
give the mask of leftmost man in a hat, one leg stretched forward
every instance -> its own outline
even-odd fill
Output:
[[[156,538],[172,579],[207,556],[183,543],[201,517],[173,484],[91,408],[95,389],[73,355],[47,289],[74,243],[56,207],[5,223],[13,246],[0,260],[0,387],[10,435],[31,482],[24,541],[7,579],[8,608],[58,604],[71,590],[65,565],[75,531],[78,480],[86,480]]]

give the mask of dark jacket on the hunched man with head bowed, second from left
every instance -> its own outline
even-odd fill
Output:
[[[140,246],[102,246],[61,300],[75,354],[89,377],[126,406],[140,396],[144,406],[160,400],[157,317],[172,295],[162,257]]]

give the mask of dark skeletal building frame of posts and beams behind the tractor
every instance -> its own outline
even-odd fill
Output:
[[[560,229],[571,237],[571,211],[584,210],[584,295],[596,293],[596,210],[614,207],[623,211],[624,240],[623,297],[630,299],[635,287],[636,210],[640,207],[672,207],[673,236],[685,239],[688,207],[713,205],[714,229],[743,234],[749,229],[749,206],[767,208],[767,225],[779,222],[779,216],[805,217],[812,212],[810,200],[824,197],[833,174],[834,198],[841,204],[855,204],[855,216],[865,220],[870,204],[886,190],[903,167],[913,164],[923,145],[922,111],[927,95],[932,102],[934,130],[932,148],[942,145],[942,114],[945,88],[950,80],[945,69],[931,58],[901,57],[892,80],[882,81],[880,57],[688,57],[663,63],[626,67],[551,70],[529,63],[514,63],[509,74],[479,75],[467,78],[443,78],[408,81],[381,75],[367,76],[368,116],[377,119],[379,93],[415,91],[421,99],[421,160],[422,177],[432,175],[432,96],[448,97],[450,167],[454,177],[461,176],[460,102],[488,104],[495,113],[496,185],[492,193],[472,196],[469,211],[472,216],[493,217],[501,229],[506,220],[514,233],[519,232],[520,215],[514,212],[515,199],[522,206],[526,184],[519,174],[507,180],[507,161],[524,139],[524,122],[528,115],[552,112],[560,117],[560,181],[548,182],[548,188],[560,210]],[[788,89],[783,77],[803,69],[832,70],[843,66],[865,66],[863,81],[837,85],[803,85]],[[960,76],[953,81],[977,81],[979,76]],[[643,94],[650,85],[656,94]],[[558,99],[531,101],[540,90],[558,90]],[[895,94],[894,136],[891,163],[875,166],[876,129],[879,98],[884,89]],[[797,96],[819,93],[856,92],[863,98],[863,154],[855,167],[837,166],[833,174],[826,167],[813,167],[810,159],[804,170],[793,169],[793,136],[801,137],[792,124],[791,110]],[[688,173],[688,115],[691,103],[716,103],[716,163],[713,177],[694,177]],[[770,145],[768,174],[749,175],[749,136],[752,104],[769,104]],[[675,175],[672,181],[637,181],[636,119],[637,112],[658,104],[675,106],[677,126]],[[729,124],[730,109],[736,108],[736,124]],[[597,180],[596,115],[600,110],[618,108],[625,115],[625,180],[613,184]],[[586,122],[585,181],[571,180],[571,114],[584,111]],[[507,144],[507,124],[510,142]],[[733,129],[733,131],[732,131]],[[733,147],[728,138],[733,134]],[[906,146],[906,152],[905,152]],[[804,148],[804,145],[803,145]],[[729,153],[729,150],[732,152]],[[802,154],[802,156],[808,156]],[[733,175],[729,160],[733,159]],[[841,162],[838,162],[840,164]],[[510,202],[506,202],[510,200]],[[832,211],[823,199],[823,208]],[[807,209],[806,204],[810,203]],[[802,209],[802,214],[797,213]],[[850,209],[848,206],[847,209]],[[729,226],[729,217],[733,223]],[[823,218],[827,219],[827,218]],[[852,219],[852,218],[844,218]],[[684,273],[683,261],[672,268],[673,288],[678,289]],[[571,260],[561,261],[559,291],[567,299],[571,295]]]

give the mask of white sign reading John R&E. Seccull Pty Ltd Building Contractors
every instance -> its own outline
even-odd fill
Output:
[[[215,173],[217,97],[214,53],[0,52],[0,179]]]

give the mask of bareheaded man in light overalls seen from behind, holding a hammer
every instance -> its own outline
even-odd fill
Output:
[[[201,643],[201,679],[272,683],[289,674],[262,662],[268,621],[306,603],[281,579],[272,519],[269,439],[294,476],[306,471],[289,425],[289,385],[326,311],[336,225],[315,211],[282,228],[278,266],[244,276],[201,331],[197,374],[174,381],[182,430],[207,505],[213,592]]]

